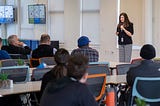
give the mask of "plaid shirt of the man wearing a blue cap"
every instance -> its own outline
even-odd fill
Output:
[[[89,58],[89,62],[97,62],[99,59],[98,51],[90,47],[82,47],[74,49],[71,55],[75,54],[83,54],[84,56],[87,56]]]

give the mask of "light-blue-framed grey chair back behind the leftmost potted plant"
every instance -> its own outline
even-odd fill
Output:
[[[0,73],[8,75],[8,79],[13,80],[14,83],[29,81],[29,67],[28,66],[13,66],[1,67]]]

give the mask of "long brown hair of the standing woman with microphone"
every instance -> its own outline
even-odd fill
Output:
[[[121,22],[121,16],[124,16],[124,22]],[[120,15],[119,15],[119,23],[118,23],[118,28],[120,28],[121,25],[124,25],[124,27],[129,27],[129,24],[132,23],[130,22],[129,18],[128,18],[128,15],[124,12],[122,12]]]

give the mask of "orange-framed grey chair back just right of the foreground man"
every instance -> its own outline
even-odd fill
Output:
[[[87,87],[95,96],[96,101],[100,100],[105,94],[106,74],[88,75]]]

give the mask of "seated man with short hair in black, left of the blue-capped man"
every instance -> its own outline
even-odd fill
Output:
[[[51,45],[50,36],[48,34],[42,34],[40,39],[40,45],[38,48],[32,51],[32,58],[52,57],[57,51]]]

